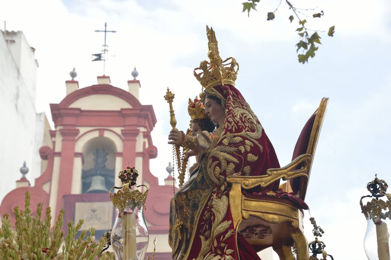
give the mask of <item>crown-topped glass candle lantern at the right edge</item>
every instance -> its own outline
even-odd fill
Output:
[[[371,195],[362,196],[360,199],[361,212],[368,221],[364,250],[369,260],[390,260],[391,194],[386,193],[387,188],[387,182],[378,179],[376,174],[375,179],[367,184]],[[383,197],[386,200],[383,200]],[[372,199],[364,205],[364,198]]]

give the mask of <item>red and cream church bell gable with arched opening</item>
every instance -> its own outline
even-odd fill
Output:
[[[64,208],[64,230],[68,221],[84,219],[82,229],[94,227],[99,237],[115,219],[108,190],[121,187],[117,175],[129,165],[140,174],[138,184],[149,188],[144,212],[150,234],[147,255],[153,251],[156,237],[156,259],[171,259],[168,223],[172,182],[159,185],[149,170],[149,160],[158,155],[151,139],[156,117],[152,105],[139,101],[140,81],[128,80],[128,91],[111,85],[105,75],[97,77],[96,85],[79,88],[74,79],[65,85],[66,97],[50,104],[55,126],[49,131],[51,144],[39,149],[46,168],[34,186],[27,179],[19,180],[17,188],[3,199],[0,212],[9,212],[13,222],[13,207],[24,205],[29,191],[32,214],[42,201],[44,207],[51,207],[53,225]]]

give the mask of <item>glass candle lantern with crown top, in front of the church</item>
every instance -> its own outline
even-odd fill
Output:
[[[122,187],[113,187],[109,196],[116,208],[116,218],[110,235],[110,243],[116,260],[143,260],[148,247],[149,233],[144,219],[145,200],[148,188],[136,186],[138,172],[127,167],[118,178]],[[140,192],[132,187],[146,187]],[[119,189],[112,193],[113,189]]]

